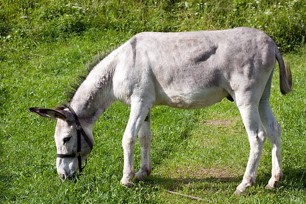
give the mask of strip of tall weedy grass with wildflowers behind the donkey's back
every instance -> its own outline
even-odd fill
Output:
[[[249,26],[289,51],[305,42],[305,13],[303,0],[2,0],[0,60],[89,30],[135,34]]]

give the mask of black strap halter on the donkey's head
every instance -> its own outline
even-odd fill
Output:
[[[86,166],[87,164],[87,159],[85,160],[85,165],[82,167],[82,160],[81,160],[81,139],[80,139],[80,135],[82,134],[83,137],[85,138],[85,140],[87,141],[88,145],[90,146],[90,151],[92,150],[92,142],[89,140],[87,134],[85,133],[85,131],[83,130],[76,113],[74,112],[74,110],[72,109],[71,106],[67,106],[67,108],[70,110],[70,112],[73,114],[74,118],[75,118],[75,123],[76,123],[76,132],[77,132],[77,148],[76,148],[76,152],[74,153],[66,153],[66,154],[60,154],[57,153],[56,156],[59,158],[65,158],[65,157],[77,157],[77,161],[78,161],[78,170],[79,173],[82,172],[83,168]],[[90,153],[89,151],[89,153]]]

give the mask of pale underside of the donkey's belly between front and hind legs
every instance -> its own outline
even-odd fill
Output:
[[[193,90],[162,90],[158,91],[155,105],[193,109],[212,105],[228,96],[228,92],[220,87]]]

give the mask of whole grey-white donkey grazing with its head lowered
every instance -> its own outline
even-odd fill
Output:
[[[119,100],[131,107],[122,137],[123,176],[143,180],[151,172],[150,111],[154,105],[201,108],[227,97],[235,102],[244,123],[250,153],[235,194],[255,182],[266,136],[272,150],[272,170],[266,188],[282,178],[281,127],[269,103],[276,60],[280,91],[292,89],[291,72],[269,35],[254,28],[190,32],[141,32],[98,61],[74,92],[68,106],[29,108],[43,117],[57,119],[56,168],[60,178],[82,170],[93,145],[92,128],[98,117]],[[141,165],[135,173],[133,147],[138,139]],[[75,136],[77,135],[77,136]],[[80,137],[83,135],[83,137]]]

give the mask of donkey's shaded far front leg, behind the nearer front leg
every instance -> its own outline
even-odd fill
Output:
[[[138,180],[143,180],[145,176],[151,173],[151,138],[151,112],[149,111],[138,132],[138,139],[141,148],[141,165],[138,172],[135,173],[135,177],[137,177]]]

